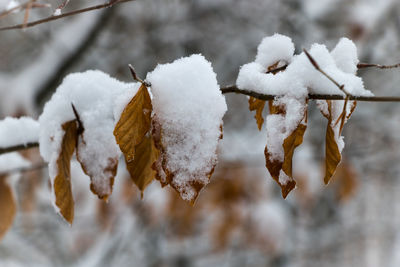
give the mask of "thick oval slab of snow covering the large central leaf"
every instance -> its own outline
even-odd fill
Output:
[[[166,168],[172,185],[193,200],[193,183],[208,184],[217,162],[220,126],[227,106],[211,63],[202,55],[158,65],[147,75],[153,111],[161,124]]]

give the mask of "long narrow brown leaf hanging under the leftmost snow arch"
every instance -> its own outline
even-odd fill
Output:
[[[64,219],[72,224],[74,220],[74,199],[71,189],[71,157],[74,153],[78,135],[76,121],[68,121],[62,125],[64,137],[61,152],[57,159],[57,176],[54,179],[56,205]]]

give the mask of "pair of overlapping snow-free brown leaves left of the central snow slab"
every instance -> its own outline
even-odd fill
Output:
[[[125,107],[115,126],[114,136],[125,156],[131,179],[142,191],[154,179],[151,168],[159,152],[153,138],[146,136],[151,126],[152,104],[146,86],[142,84]]]

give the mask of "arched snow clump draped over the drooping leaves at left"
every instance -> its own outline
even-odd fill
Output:
[[[101,71],[90,70],[65,77],[39,118],[40,154],[49,162],[52,181],[57,174],[56,162],[64,135],[62,124],[75,119],[71,106],[73,103],[84,127],[84,140],[79,138],[78,144],[80,160],[85,163],[96,192],[102,195],[111,193],[109,179],[113,174],[107,167],[111,161],[118,161],[121,155],[113,135],[117,122],[114,114],[121,112],[118,105],[124,102],[119,99],[121,95],[127,97],[125,102],[133,97],[124,94],[130,87],[138,88]]]

